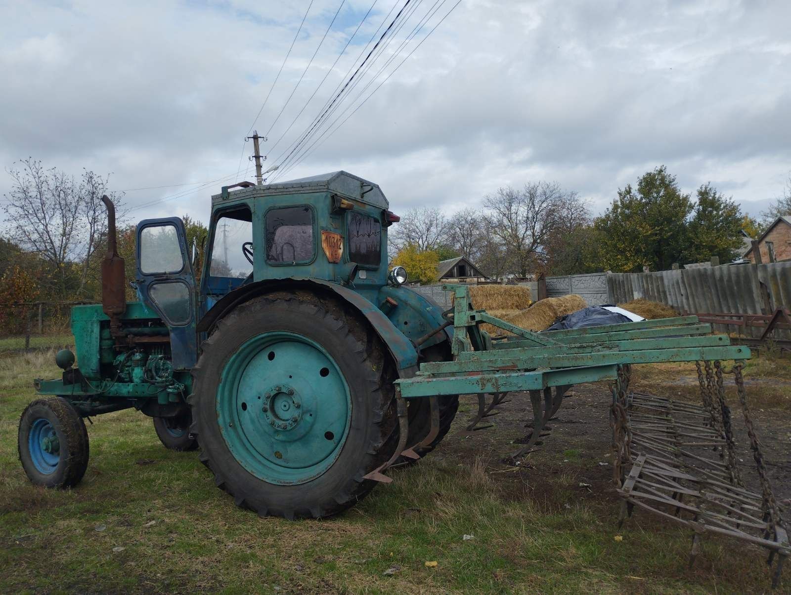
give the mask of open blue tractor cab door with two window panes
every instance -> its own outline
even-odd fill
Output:
[[[136,281],[142,301],[168,325],[173,367],[190,369],[198,352],[195,273],[179,217],[138,223]]]

